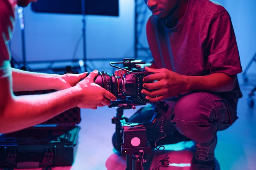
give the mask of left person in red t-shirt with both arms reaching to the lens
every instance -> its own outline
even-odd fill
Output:
[[[96,109],[97,106],[110,105],[110,100],[116,99],[109,91],[94,83],[97,71],[86,77],[86,73],[58,76],[10,68],[8,42],[14,15],[8,1],[0,0],[0,7],[0,133],[40,124],[75,106]],[[43,95],[14,96],[13,89],[60,91]]]

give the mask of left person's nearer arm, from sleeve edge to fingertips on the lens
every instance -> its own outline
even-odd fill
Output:
[[[110,105],[116,97],[94,83],[97,75],[93,71],[76,86],[61,91],[24,96],[12,94],[11,77],[0,78],[0,133],[40,124],[75,106],[96,109]]]

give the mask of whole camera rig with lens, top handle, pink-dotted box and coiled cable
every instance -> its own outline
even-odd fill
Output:
[[[159,132],[162,132],[164,137],[166,137],[164,133],[166,117],[164,114],[167,112],[169,106],[165,102],[159,101],[152,103],[145,98],[146,96],[141,93],[141,90],[144,89],[143,78],[153,74],[153,72],[148,72],[138,66],[138,64],[145,64],[145,62],[132,61],[135,61],[135,59],[124,59],[123,62],[110,62],[111,66],[119,68],[126,73],[119,77],[115,74],[101,71],[94,79],[94,82],[117,97],[117,100],[111,101],[111,105],[108,106],[117,107],[117,116],[112,118],[112,124],[116,124],[116,137],[112,140],[115,140],[116,144],[121,147],[121,153],[126,155],[126,170],[143,170],[142,163],[146,161],[143,158],[144,153],[149,153],[152,149],[146,136],[146,128],[155,126],[155,121],[161,119],[158,127]],[[123,64],[124,68],[113,64]],[[153,83],[153,81],[146,83]],[[155,112],[152,119],[148,122],[129,122],[128,118],[123,115],[124,109],[134,109],[135,106],[146,105],[148,103],[153,105]],[[157,141],[160,139],[157,139]],[[155,141],[155,147],[157,141]]]

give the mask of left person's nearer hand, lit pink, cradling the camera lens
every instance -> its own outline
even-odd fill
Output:
[[[97,107],[110,105],[110,100],[116,100],[116,97],[112,93],[94,83],[94,78],[97,75],[98,71],[94,70],[85,77],[85,79],[76,84],[76,86],[81,88],[82,91],[81,102],[78,107],[97,109]]]

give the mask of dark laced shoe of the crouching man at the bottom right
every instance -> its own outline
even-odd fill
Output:
[[[209,143],[195,143],[195,153],[191,160],[190,170],[215,170],[214,150],[217,144],[217,137]]]

